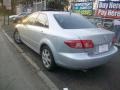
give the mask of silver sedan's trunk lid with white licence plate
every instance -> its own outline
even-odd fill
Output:
[[[112,46],[114,33],[105,29],[71,29],[70,33],[75,34],[80,40],[92,40],[94,48],[86,48],[89,54],[99,54],[109,51]]]

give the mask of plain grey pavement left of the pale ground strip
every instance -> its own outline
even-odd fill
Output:
[[[1,23],[1,22],[0,22]],[[50,90],[0,28],[0,90]]]

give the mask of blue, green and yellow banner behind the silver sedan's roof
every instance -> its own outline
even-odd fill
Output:
[[[91,16],[93,14],[93,2],[77,2],[73,4],[73,11],[82,15]]]

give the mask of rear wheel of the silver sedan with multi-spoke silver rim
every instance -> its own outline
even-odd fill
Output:
[[[43,66],[48,71],[53,71],[56,67],[53,54],[48,46],[43,46],[41,49],[41,60],[43,63]]]

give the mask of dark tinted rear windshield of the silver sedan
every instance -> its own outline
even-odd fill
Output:
[[[96,28],[86,18],[77,14],[54,14],[54,17],[64,29]]]

